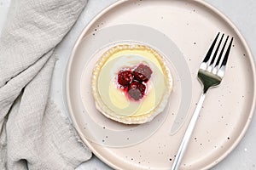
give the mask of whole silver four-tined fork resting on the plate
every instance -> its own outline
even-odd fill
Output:
[[[203,61],[201,62],[201,65],[197,74],[197,77],[203,86],[201,98],[199,99],[196,105],[195,112],[189,122],[189,127],[187,127],[187,130],[183,136],[183,140],[179,146],[179,149],[177,150],[177,155],[172,164],[172,170],[177,170],[182,161],[185,150],[187,149],[187,146],[189,144],[189,139],[191,137],[191,134],[193,133],[195,123],[201,111],[201,106],[203,104],[204,99],[206,98],[208,89],[218,86],[218,84],[220,84],[220,82],[224,77],[224,71],[225,71],[228,57],[230,54],[230,48],[233,42],[233,37],[230,40],[230,44],[228,48],[226,48],[227,42],[229,40],[229,36],[225,38],[225,41],[223,43],[224,34],[222,34],[222,36],[220,37],[220,40],[218,40],[219,35],[220,33],[218,32],[218,35],[215,37],[214,41],[212,42],[212,45],[209,48],[205,59],[203,59]],[[218,45],[217,47],[215,47],[217,42],[218,42]],[[221,49],[220,49],[220,46],[222,46]],[[212,54],[213,51],[214,53]],[[218,59],[216,58],[217,55],[218,55]]]

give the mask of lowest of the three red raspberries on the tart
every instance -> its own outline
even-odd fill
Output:
[[[142,82],[131,82],[128,87],[128,94],[132,99],[142,99],[145,94],[146,86]]]

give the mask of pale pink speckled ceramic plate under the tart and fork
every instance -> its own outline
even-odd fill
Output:
[[[123,134],[122,137],[125,138],[126,133],[119,134],[119,132],[123,132],[124,129],[128,131],[135,129],[133,132],[136,133],[137,128],[119,127],[116,122],[100,116],[93,105],[90,90],[86,91],[84,88],[87,89],[90,85],[90,71],[105,48],[113,43],[139,41],[136,38],[129,39],[129,31],[127,33],[125,29],[121,29],[124,35],[128,35],[127,38],[114,39],[118,36],[112,32],[114,40],[108,37],[109,43],[107,43],[106,37],[102,37],[102,42],[106,43],[96,45],[100,42],[97,42],[94,36],[101,35],[102,31],[108,28],[125,25],[144,26],[153,29],[153,32],[160,32],[162,43],[160,43],[161,39],[158,40],[155,37],[157,33],[153,33],[152,37],[145,34],[148,38],[143,39],[145,40],[143,42],[158,48],[165,54],[176,82],[174,82],[175,90],[170,100],[173,108],[166,109],[162,116],[155,119],[156,124],[160,122],[158,126],[155,126],[155,122],[149,122],[140,130],[144,129],[144,132],[147,132],[147,129],[151,129],[154,125],[151,133],[143,139],[122,145],[118,135]],[[218,88],[212,88],[207,95],[180,169],[208,169],[228,156],[246,133],[253,116],[255,105],[253,57],[236,26],[216,8],[199,0],[119,1],[104,9],[84,28],[67,66],[66,93],[67,108],[73,124],[90,150],[114,169],[170,169],[183,133],[201,95],[201,84],[196,78],[201,59],[207,53],[212,38],[218,31],[235,38],[228,67],[221,85]],[[116,34],[122,35],[120,32]],[[164,43],[167,41],[165,38],[171,42],[170,50],[177,52],[170,54],[174,57],[165,51],[169,45]],[[158,43],[154,43],[154,40]],[[88,56],[88,51],[96,47],[99,48]],[[176,65],[177,57],[183,59],[180,61],[183,65]],[[189,71],[189,76],[186,71]],[[189,99],[186,101],[189,101],[189,107],[182,113],[179,112],[183,108],[181,96]],[[92,128],[94,126],[88,124],[88,119],[103,129],[106,126],[110,127],[113,135],[112,143],[106,144],[110,140],[110,133]],[[176,121],[178,126],[172,132],[171,129]],[[103,125],[104,123],[106,126]],[[104,139],[95,137],[98,133],[101,133]],[[114,137],[114,134],[117,136]],[[116,145],[114,142],[117,142]]]

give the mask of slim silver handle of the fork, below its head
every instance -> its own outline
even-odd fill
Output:
[[[181,142],[179,149],[177,150],[177,155],[175,156],[175,160],[172,164],[172,170],[177,170],[178,167],[180,166],[180,163],[183,159],[183,155],[184,155],[184,153],[187,149],[187,146],[189,144],[189,139],[190,139],[191,134],[193,133],[193,130],[195,128],[195,123],[196,123],[199,113],[201,111],[202,104],[206,98],[206,94],[207,93],[201,94],[201,98],[199,99],[199,101],[196,105],[193,116],[189,122],[189,127],[187,127],[187,130],[183,136],[183,141]]]

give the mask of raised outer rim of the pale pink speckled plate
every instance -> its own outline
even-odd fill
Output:
[[[134,0],[136,1],[136,0]],[[79,43],[83,40],[84,35],[86,35],[86,33],[90,30],[91,26],[93,26],[97,20],[99,20],[104,14],[108,13],[109,10],[112,10],[113,8],[118,7],[119,5],[125,3],[125,2],[129,2],[129,0],[119,0],[117,2],[114,2],[110,5],[108,5],[107,8],[103,8],[98,14],[96,14],[95,17],[93,17],[89,23],[84,26],[83,31],[81,31],[81,33],[79,34],[78,39],[76,40],[76,42],[74,43],[73,49],[72,49],[72,53],[69,56],[69,59],[67,61],[67,68],[66,68],[66,72],[64,75],[64,95],[65,95],[65,105],[67,107],[67,113],[68,116],[71,117],[71,121],[73,122],[73,126],[76,128],[77,132],[79,133],[79,137],[83,140],[84,144],[86,144],[90,150],[104,163],[108,164],[108,166],[114,168],[114,169],[120,169],[120,167],[118,167],[117,165],[115,165],[113,162],[108,161],[108,159],[106,159],[104,156],[102,156],[97,150],[94,149],[94,147],[92,146],[92,144],[90,143],[89,140],[85,139],[83,136],[83,133],[81,133],[81,131],[79,130],[79,126],[78,123],[75,120],[75,117],[73,116],[73,114],[71,114],[71,112],[73,112],[71,110],[71,101],[69,99],[70,95],[69,95],[69,84],[68,84],[68,80],[70,77],[70,70],[71,70],[71,66],[72,66],[72,60],[75,56],[76,50],[79,47]],[[227,157],[230,152],[232,150],[234,150],[236,148],[236,146],[241,142],[241,139],[243,139],[244,135],[247,132],[248,127],[250,126],[252,119],[253,119],[253,114],[255,112],[255,106],[256,106],[256,79],[255,79],[255,75],[256,75],[256,68],[255,68],[255,61],[253,59],[253,54],[251,52],[251,49],[249,48],[246,40],[244,37],[242,37],[241,32],[239,31],[239,29],[236,27],[236,25],[229,19],[229,17],[227,17],[224,13],[222,13],[218,8],[214,7],[212,4],[207,3],[203,0],[189,0],[189,2],[192,3],[197,3],[201,6],[203,6],[204,8],[208,8],[210,11],[213,12],[213,14],[217,14],[220,18],[222,18],[224,20],[224,22],[226,22],[235,32],[236,35],[238,36],[238,38],[241,40],[241,44],[243,44],[243,47],[245,48],[245,50],[247,51],[247,58],[250,61],[251,67],[252,67],[252,74],[253,74],[253,105],[251,105],[249,114],[248,114],[248,118],[247,118],[247,122],[245,123],[245,125],[243,126],[241,133],[239,134],[239,137],[234,141],[233,144],[230,145],[229,149],[224,151],[224,153],[222,154],[222,156],[218,157],[218,161],[212,161],[212,163],[208,164],[206,167],[204,168],[211,168],[214,167],[215,165],[218,164],[218,162],[223,161],[225,157]]]

